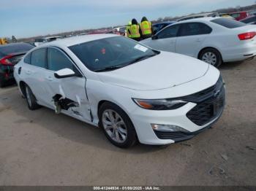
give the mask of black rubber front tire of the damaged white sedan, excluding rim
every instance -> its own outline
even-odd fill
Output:
[[[109,110],[116,112],[121,117],[121,120],[123,120],[125,124],[125,130],[127,130],[127,136],[126,136],[126,139],[122,140],[124,142],[114,141],[113,138],[110,137],[110,135],[108,134],[107,130],[105,129],[102,123],[103,114]],[[105,102],[99,108],[99,127],[102,128],[102,130],[105,133],[105,136],[107,136],[108,140],[112,144],[114,144],[116,147],[128,148],[128,147],[132,147],[138,142],[136,130],[132,124],[132,121],[129,119],[129,116],[119,106],[116,106],[115,104],[112,104],[110,102]],[[121,134],[119,138],[121,138]]]

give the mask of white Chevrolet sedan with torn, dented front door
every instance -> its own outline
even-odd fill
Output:
[[[225,106],[214,66],[113,34],[42,44],[14,75],[29,109],[47,106],[99,126],[117,147],[191,139]]]

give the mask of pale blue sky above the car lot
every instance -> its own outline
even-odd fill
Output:
[[[255,0],[1,0],[0,37],[56,34],[193,12],[255,4]]]

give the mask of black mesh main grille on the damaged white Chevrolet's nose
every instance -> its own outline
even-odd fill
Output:
[[[225,88],[223,82],[219,81],[213,87],[195,93],[201,96],[194,98],[194,101],[192,101],[192,97],[195,94],[189,95],[189,100],[197,105],[187,113],[187,117],[196,125],[206,125],[221,114],[225,105]]]

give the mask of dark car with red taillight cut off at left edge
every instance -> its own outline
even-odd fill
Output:
[[[32,48],[27,43],[0,45],[0,87],[15,83],[13,67]]]

